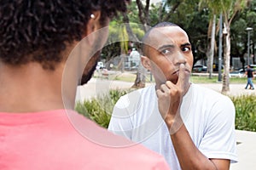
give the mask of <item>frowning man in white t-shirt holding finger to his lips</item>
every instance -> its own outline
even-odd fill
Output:
[[[229,169],[236,162],[235,107],[189,82],[193,65],[186,32],[160,23],[143,38],[143,66],[155,85],[121,97],[108,130],[165,156],[171,169]]]

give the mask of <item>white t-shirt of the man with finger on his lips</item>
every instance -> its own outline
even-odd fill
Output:
[[[195,146],[205,156],[237,161],[236,111],[230,98],[192,83],[183,97],[181,115]],[[171,169],[181,169],[158,111],[154,85],[122,96],[114,106],[108,130],[165,156]]]

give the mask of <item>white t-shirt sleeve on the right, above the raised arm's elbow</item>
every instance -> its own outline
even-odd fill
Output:
[[[215,102],[199,146],[205,156],[237,161],[235,116],[236,110],[230,98],[224,97]]]

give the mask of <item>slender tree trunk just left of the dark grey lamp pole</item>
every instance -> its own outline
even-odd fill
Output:
[[[207,71],[209,72],[209,78],[212,78],[212,65],[214,56],[214,43],[215,43],[215,31],[216,31],[216,15],[212,17],[212,22],[210,22],[209,30],[211,33],[211,41],[208,43],[207,47]]]

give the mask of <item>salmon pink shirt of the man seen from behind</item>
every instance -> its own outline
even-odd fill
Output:
[[[75,111],[0,112],[0,169],[160,169],[164,158]]]

